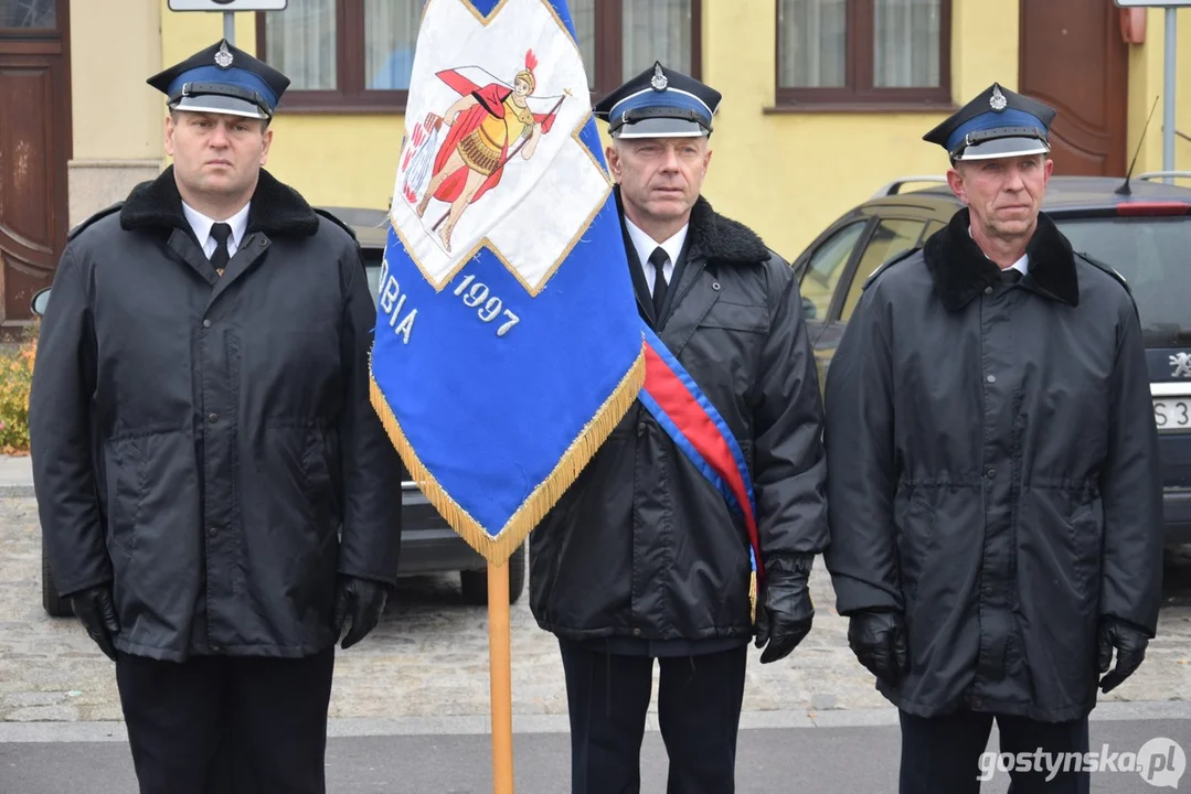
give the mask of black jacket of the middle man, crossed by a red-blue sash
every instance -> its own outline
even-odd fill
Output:
[[[744,452],[762,561],[822,551],[822,399],[788,264],[700,198],[654,326]],[[534,615],[562,638],[753,633],[744,524],[640,402],[530,539]]]

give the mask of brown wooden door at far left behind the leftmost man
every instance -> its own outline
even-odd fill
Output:
[[[68,231],[67,0],[0,0],[0,335],[31,318]]]

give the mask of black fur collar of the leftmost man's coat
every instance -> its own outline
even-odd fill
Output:
[[[173,165],[157,179],[132,188],[120,210],[120,226],[125,230],[152,226],[189,229],[182,214],[182,196],[177,193]],[[318,215],[297,190],[261,169],[248,211],[248,231],[310,236],[318,231]]]

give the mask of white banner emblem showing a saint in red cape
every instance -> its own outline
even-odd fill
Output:
[[[525,40],[513,51],[491,43]],[[540,64],[548,64],[538,68]],[[536,295],[600,210],[607,176],[579,140],[582,57],[545,2],[434,2],[418,42],[393,226],[442,289],[481,246]]]

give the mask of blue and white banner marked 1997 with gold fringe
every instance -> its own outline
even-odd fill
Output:
[[[389,211],[373,404],[490,562],[644,379],[624,242],[565,0],[429,0]]]

